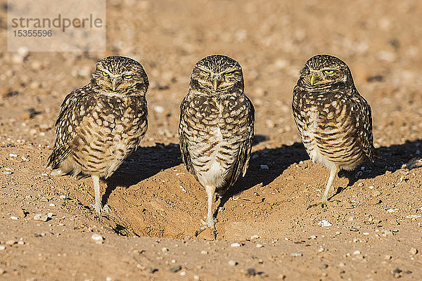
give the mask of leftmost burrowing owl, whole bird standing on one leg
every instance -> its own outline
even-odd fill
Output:
[[[53,176],[91,175],[98,214],[103,210],[99,178],[111,176],[146,133],[148,85],[140,63],[110,56],[99,60],[89,84],[61,105],[47,166]]]

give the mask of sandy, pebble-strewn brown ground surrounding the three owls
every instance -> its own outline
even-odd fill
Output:
[[[349,2],[108,1],[106,53],[20,55],[6,51],[2,1],[0,280],[421,280],[422,4]],[[212,53],[241,63],[256,109],[250,168],[215,204],[215,241],[193,236],[205,190],[177,140],[192,67]],[[328,171],[309,160],[290,109],[316,53],[350,66],[382,156],[340,172],[327,211],[307,210]],[[43,165],[63,98],[112,54],[145,67],[150,126],[101,183],[110,214],[96,216],[90,178]]]

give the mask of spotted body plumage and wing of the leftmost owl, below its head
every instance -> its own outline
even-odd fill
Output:
[[[84,171],[89,157],[98,158],[98,162],[113,162],[114,157],[120,163],[95,167],[103,169],[106,176],[113,174],[114,166],[139,145],[148,126],[147,115],[143,95],[107,95],[93,91],[90,85],[72,91],[60,107],[56,143],[47,166],[58,169],[72,155]]]

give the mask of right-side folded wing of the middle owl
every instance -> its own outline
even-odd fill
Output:
[[[250,152],[252,151],[253,142],[253,128],[255,124],[255,108],[253,107],[250,99],[246,96],[245,101],[246,109],[243,114],[245,114],[246,118],[245,126],[248,126],[248,135],[246,136],[245,140],[240,143],[238,157],[236,159],[233,173],[231,174],[229,181],[230,184],[228,186],[233,185],[241,174],[242,176],[245,176],[246,170],[249,166]]]

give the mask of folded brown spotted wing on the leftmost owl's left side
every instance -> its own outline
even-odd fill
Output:
[[[92,110],[92,99],[87,93],[91,92],[89,85],[76,89],[66,96],[60,106],[60,113],[56,120],[56,143],[53,152],[47,159],[46,166],[58,169],[62,162],[70,154],[70,143],[76,136],[75,129],[82,122],[86,112]]]

